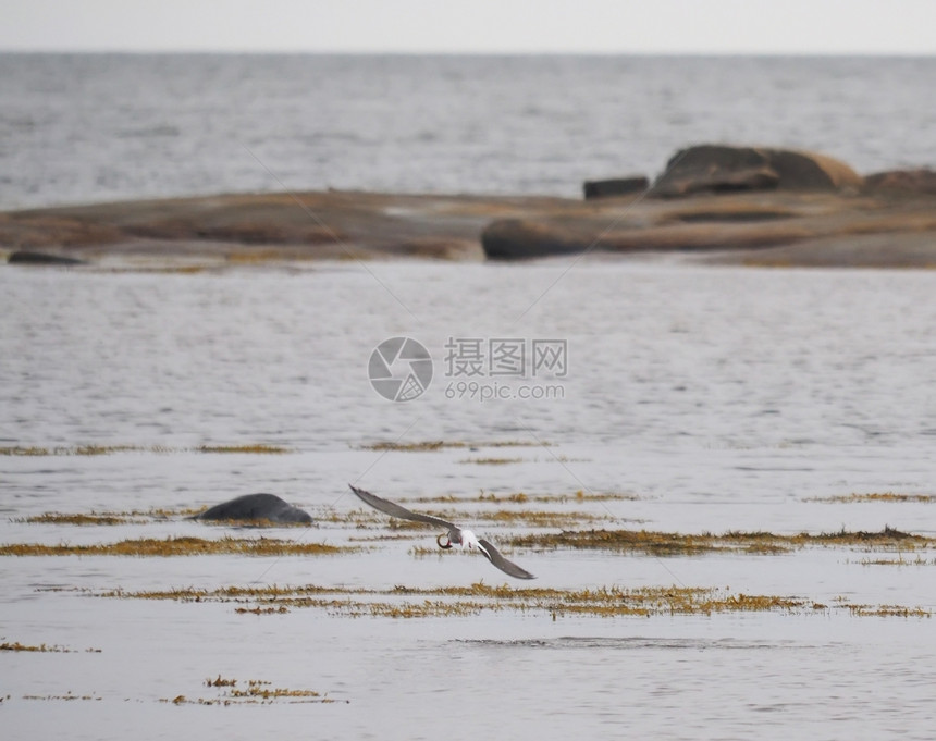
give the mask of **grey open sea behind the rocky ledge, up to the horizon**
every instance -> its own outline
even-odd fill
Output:
[[[325,187],[576,196],[705,141],[936,166],[936,59],[0,55],[0,209]]]

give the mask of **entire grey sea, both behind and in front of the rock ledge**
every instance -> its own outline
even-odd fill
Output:
[[[710,139],[823,149],[862,171],[925,164],[936,151],[932,60],[2,57],[0,66],[4,207],[328,185],[572,195],[583,177],[653,172],[675,148]],[[611,491],[635,498],[554,506],[663,531],[932,535],[933,504],[821,499],[934,493],[934,295],[932,271],[664,259],[197,274],[0,267],[0,446],[132,448],[0,456],[0,543],[221,538],[231,531],[181,519],[22,520],[269,491],[320,520],[303,538],[341,544],[360,534],[346,482],[391,498],[448,494],[445,507],[468,521],[482,491]],[[433,359],[429,388],[407,403],[385,400],[367,378],[373,349],[394,336]],[[482,363],[476,391],[459,386],[453,345],[468,360],[466,343],[489,351],[492,339],[520,343],[522,373]],[[533,375],[535,341],[566,343],[565,366]],[[495,386],[509,398],[482,400]],[[521,387],[554,391],[519,398]],[[443,439],[479,445],[361,447]],[[483,445],[498,441],[530,447]],[[292,452],[196,450],[256,443]],[[477,462],[485,457],[507,460]],[[525,530],[484,527],[495,542]],[[71,650],[0,652],[3,738],[932,738],[932,618],[348,619],[83,591],[503,582],[478,557],[415,558],[431,538],[336,558],[0,558],[0,642]],[[934,554],[919,555],[903,565],[848,548],[512,557],[542,586],[717,586],[934,610]],[[205,680],[219,675],[348,704],[172,704],[218,696]]]

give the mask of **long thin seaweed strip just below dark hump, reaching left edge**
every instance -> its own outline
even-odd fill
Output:
[[[201,538],[143,538],[116,543],[72,545],[60,543],[12,543],[0,545],[0,556],[332,556],[354,553],[354,546],[327,543],[300,543],[274,538],[243,539],[225,536],[218,540]]]

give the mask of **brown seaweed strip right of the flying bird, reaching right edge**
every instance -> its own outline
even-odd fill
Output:
[[[654,556],[697,555],[711,552],[784,553],[809,546],[861,546],[882,549],[936,547],[936,539],[914,535],[885,527],[879,532],[846,531],[779,535],[769,532],[729,531],[682,534],[648,530],[564,530],[558,533],[518,535],[509,541],[515,547],[579,548],[640,552]]]

